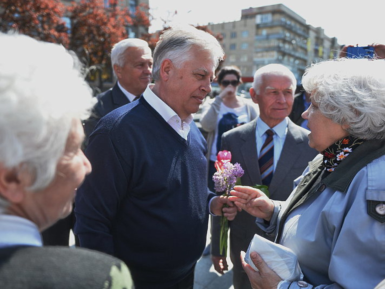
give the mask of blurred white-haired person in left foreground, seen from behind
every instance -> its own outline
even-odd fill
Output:
[[[91,171],[80,120],[93,101],[79,61],[25,35],[0,34],[0,43],[1,287],[128,287],[129,271],[114,257],[42,246],[40,231],[71,212]]]

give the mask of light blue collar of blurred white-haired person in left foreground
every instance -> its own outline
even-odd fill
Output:
[[[0,248],[12,245],[43,245],[35,223],[22,217],[0,215],[0,232]]]

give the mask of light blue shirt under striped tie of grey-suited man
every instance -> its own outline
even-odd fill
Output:
[[[273,141],[274,141],[274,171],[277,167],[278,160],[280,159],[283,144],[285,143],[286,134],[288,131],[288,118],[286,117],[283,121],[277,124],[274,128],[269,128],[269,126],[264,123],[261,118],[257,118],[256,126],[256,142],[257,142],[257,151],[258,155],[261,152],[264,141],[266,140],[266,130],[271,129],[274,131]]]

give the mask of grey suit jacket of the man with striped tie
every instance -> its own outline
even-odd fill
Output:
[[[242,185],[261,184],[255,131],[256,119],[231,129],[222,136],[222,149],[231,151],[231,162],[239,163],[244,169],[244,175],[241,178]],[[271,199],[286,200],[293,190],[295,178],[301,175],[308,162],[318,154],[308,145],[308,133],[308,130],[289,120],[285,143],[269,186]],[[212,218],[211,227],[211,254],[216,256],[219,255],[219,220],[220,217]],[[240,251],[246,252],[254,234],[270,240],[271,237],[267,237],[256,226],[255,217],[245,211],[238,212],[235,219],[229,222],[229,227],[230,258],[234,265],[234,288],[251,288],[239,260]]]

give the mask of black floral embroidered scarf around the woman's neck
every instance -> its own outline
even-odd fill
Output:
[[[362,138],[355,138],[353,136],[346,136],[345,138],[336,141],[326,150],[321,152],[323,155],[322,165],[329,172],[334,171],[338,164],[345,160],[355,148],[364,142]]]

